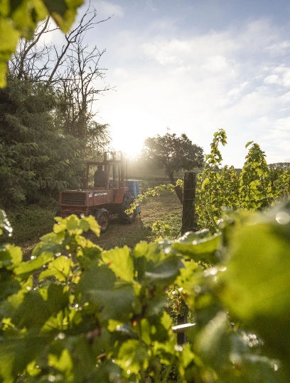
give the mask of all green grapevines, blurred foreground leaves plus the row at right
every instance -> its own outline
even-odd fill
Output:
[[[248,143],[237,174],[220,143],[198,174],[200,231],[102,250],[95,219],[70,216],[29,260],[1,245],[2,382],[289,382],[290,172]]]

